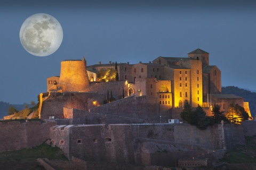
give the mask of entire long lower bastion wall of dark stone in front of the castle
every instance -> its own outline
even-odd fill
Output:
[[[188,153],[200,156],[245,145],[238,140],[243,138],[241,129],[242,125],[214,125],[206,130],[189,124],[61,125],[51,128],[51,139],[69,159],[173,166]]]

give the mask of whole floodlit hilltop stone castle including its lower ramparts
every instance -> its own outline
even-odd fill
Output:
[[[111,69],[118,72],[119,80],[99,82],[97,73]],[[104,104],[107,92],[116,101]],[[15,149],[51,139],[70,160],[161,166],[205,160],[208,164],[228,149],[246,145],[244,137],[256,134],[256,121],[214,124],[206,130],[168,122],[180,118],[185,103],[200,105],[211,115],[212,105],[226,111],[233,102],[250,114],[242,97],[221,94],[221,71],[209,65],[209,53],[202,49],[188,53],[187,58],[157,57],[138,64],[86,66],[83,58],[62,61],[60,76],[47,78],[47,92],[39,95],[39,116],[45,123],[2,123],[0,129],[8,129],[5,141],[16,138],[7,126],[26,134]],[[42,129],[44,133],[35,138]],[[11,149],[4,146],[0,151],[5,148]]]

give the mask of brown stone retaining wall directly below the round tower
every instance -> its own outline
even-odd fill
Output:
[[[89,108],[95,107],[93,101],[101,103],[104,99],[105,95],[90,92],[54,92],[41,105],[41,119],[47,119],[49,116],[62,118],[63,107],[88,111]]]

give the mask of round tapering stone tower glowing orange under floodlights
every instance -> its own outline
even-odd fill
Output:
[[[59,86],[62,88],[62,92],[82,91],[90,87],[84,58],[83,60],[61,62]]]

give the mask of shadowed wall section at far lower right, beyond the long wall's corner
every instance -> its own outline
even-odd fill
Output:
[[[226,149],[233,149],[236,145],[246,145],[242,125],[225,124],[223,130]]]

